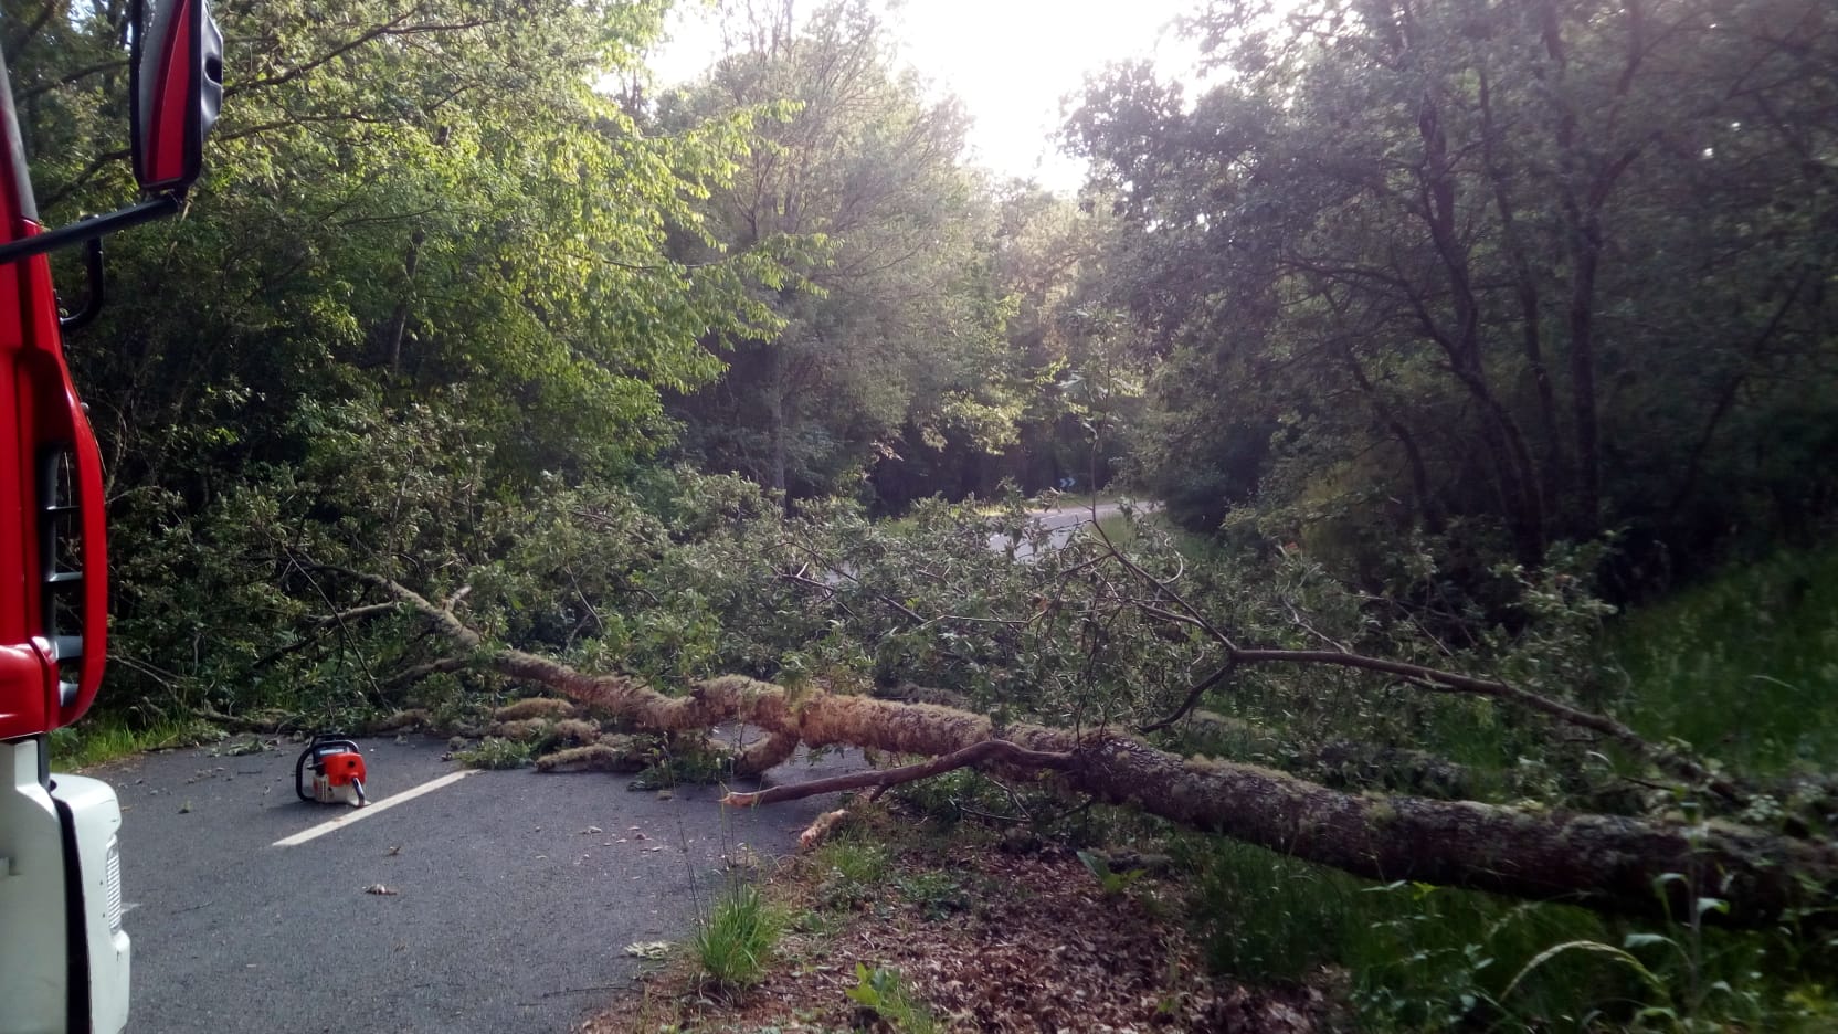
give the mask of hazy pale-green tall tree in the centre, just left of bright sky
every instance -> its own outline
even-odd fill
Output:
[[[662,118],[772,109],[709,223],[730,247],[822,250],[807,283],[766,293],[783,331],[724,335],[722,381],[682,399],[706,462],[776,489],[847,489],[904,427],[1011,431],[989,217],[961,164],[967,120],[895,64],[866,2],[733,13],[737,46]],[[936,442],[936,438],[934,438]]]

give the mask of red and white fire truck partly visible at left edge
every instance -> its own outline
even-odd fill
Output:
[[[101,237],[176,212],[222,98],[206,0],[134,0],[130,140],[143,201],[46,230],[0,63],[0,1032],[121,1030],[121,808],[105,782],[51,775],[53,729],[83,718],[108,622],[103,477],[62,333],[103,300]],[[59,309],[50,252],[83,247],[88,289]]]

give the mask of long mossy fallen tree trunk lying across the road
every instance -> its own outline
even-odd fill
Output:
[[[941,758],[913,769],[976,764],[1051,775],[1066,789],[1099,800],[1371,879],[1413,879],[1671,918],[1689,918],[1698,898],[1717,898],[1728,909],[1709,911],[1704,920],[1737,927],[1770,925],[1792,909],[1821,909],[1829,918],[1838,892],[1838,846],[1742,826],[1366,797],[1257,765],[1180,758],[1118,734],[1079,736],[1020,725],[998,736],[987,718],[963,710],[794,692],[739,675],[695,683],[686,695],[671,697],[625,675],[592,675],[535,653],[491,648],[450,609],[390,580],[353,576],[425,615],[471,664],[546,686],[641,729],[757,725],[768,736],[743,756],[744,769],[754,773],[789,760],[805,743]],[[849,786],[831,789],[895,780],[844,782]],[[737,804],[768,800],[770,793],[733,797]]]

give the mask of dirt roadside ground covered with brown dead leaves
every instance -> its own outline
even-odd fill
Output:
[[[873,833],[869,833],[873,835]],[[1152,879],[1110,890],[1070,852],[989,843],[888,848],[886,874],[842,902],[823,854],[768,881],[789,929],[768,975],[711,988],[678,955],[584,1034],[925,1030],[858,1006],[868,971],[897,970],[937,1030],[1299,1034],[1334,1027],[1312,988],[1248,990],[1206,973]]]

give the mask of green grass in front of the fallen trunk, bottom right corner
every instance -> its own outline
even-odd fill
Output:
[[[1184,839],[1176,854],[1217,971],[1254,984],[1344,973],[1366,1030],[1829,1030],[1838,1019],[1814,979],[1821,962],[1779,931],[1380,885],[1224,839]]]

